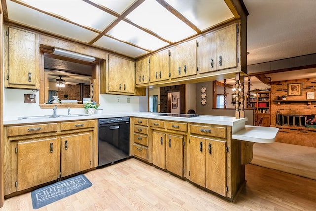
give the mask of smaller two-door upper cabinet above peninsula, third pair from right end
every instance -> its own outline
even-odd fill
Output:
[[[157,82],[169,79],[169,50],[150,56],[150,81]]]

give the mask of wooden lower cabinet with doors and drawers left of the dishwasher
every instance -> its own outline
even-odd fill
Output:
[[[97,120],[5,126],[4,195],[96,167],[95,134]]]

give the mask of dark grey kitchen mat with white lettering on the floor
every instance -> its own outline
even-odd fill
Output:
[[[92,183],[84,175],[80,174],[36,189],[31,192],[33,209],[41,208],[91,186]]]

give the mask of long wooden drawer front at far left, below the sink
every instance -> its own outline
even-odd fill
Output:
[[[7,127],[8,137],[17,135],[37,134],[43,132],[57,132],[57,123]]]

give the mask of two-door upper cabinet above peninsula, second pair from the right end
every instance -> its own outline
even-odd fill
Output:
[[[171,79],[197,74],[197,40],[170,48]]]

